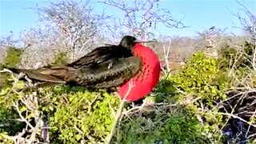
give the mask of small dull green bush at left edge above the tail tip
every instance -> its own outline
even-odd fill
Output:
[[[6,50],[6,58],[3,65],[15,67],[21,61],[23,50],[16,47],[8,47]]]

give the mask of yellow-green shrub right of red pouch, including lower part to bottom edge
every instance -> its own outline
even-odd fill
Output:
[[[220,142],[220,129],[225,121],[222,115],[216,114],[219,112],[217,103],[226,99],[231,78],[220,69],[218,60],[206,58],[201,52],[196,53],[178,74],[169,79],[174,87],[182,91],[174,95],[178,102],[187,103],[186,109],[204,122],[204,137],[211,135],[211,142]]]

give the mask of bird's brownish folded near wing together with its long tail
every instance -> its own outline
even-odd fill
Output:
[[[38,70],[10,69],[14,73],[24,73],[35,82],[50,82],[86,86],[94,88],[109,88],[119,86],[134,77],[141,70],[142,62],[137,57],[118,58],[111,68],[109,63],[102,62],[98,65],[42,67]]]

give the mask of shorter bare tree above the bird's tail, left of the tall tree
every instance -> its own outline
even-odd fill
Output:
[[[48,24],[26,30],[21,39],[26,46],[19,66],[22,68],[45,66],[52,61],[55,51],[64,47],[58,32]]]

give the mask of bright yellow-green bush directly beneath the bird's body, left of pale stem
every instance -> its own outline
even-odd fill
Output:
[[[102,142],[110,133],[118,98],[81,87],[56,86],[42,91],[49,95],[42,111],[50,114],[51,142]]]

